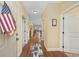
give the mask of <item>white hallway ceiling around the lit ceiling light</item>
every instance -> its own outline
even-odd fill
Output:
[[[32,20],[32,22],[34,24],[42,24],[42,19],[41,19],[41,16],[42,16],[42,13],[45,9],[45,7],[47,6],[48,3],[60,3],[58,1],[24,1],[22,2],[24,7],[27,9],[27,12],[30,16],[30,19]],[[34,14],[33,13],[33,10],[37,10],[39,11],[37,14]]]

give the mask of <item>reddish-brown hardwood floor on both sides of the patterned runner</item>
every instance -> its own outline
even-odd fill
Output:
[[[32,56],[31,47],[32,47],[33,43],[38,41],[35,39],[36,39],[35,37],[32,37],[31,40],[28,42],[28,44],[23,47],[20,57],[31,57]],[[62,51],[47,51],[44,46],[43,41],[41,41],[40,44],[42,47],[44,57],[67,57],[67,55]]]

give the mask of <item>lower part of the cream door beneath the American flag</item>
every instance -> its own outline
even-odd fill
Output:
[[[0,57],[16,57],[15,35],[7,36],[0,33]]]

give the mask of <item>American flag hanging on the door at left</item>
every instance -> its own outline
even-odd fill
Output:
[[[16,29],[15,20],[6,2],[4,2],[4,5],[2,6],[1,10],[0,28],[2,32],[5,34],[11,34]]]

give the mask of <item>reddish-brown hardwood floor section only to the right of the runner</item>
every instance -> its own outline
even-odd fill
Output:
[[[63,51],[47,51],[43,41],[41,41],[44,57],[67,57]]]

